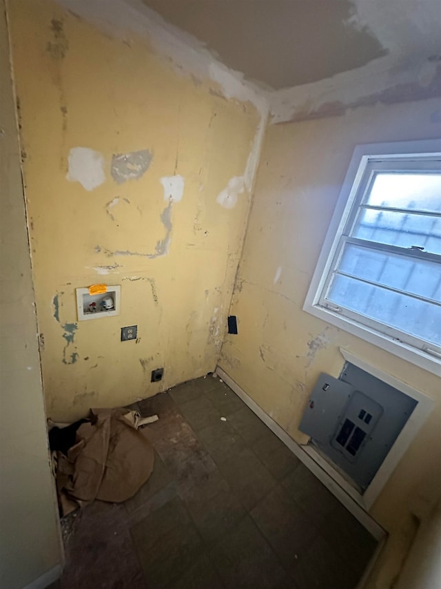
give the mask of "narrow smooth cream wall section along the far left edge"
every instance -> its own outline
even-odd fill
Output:
[[[0,586],[19,589],[60,548],[3,0],[0,129]]]

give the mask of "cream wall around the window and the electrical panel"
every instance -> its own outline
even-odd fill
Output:
[[[349,111],[342,117],[270,126],[220,366],[296,441],[320,371],[338,376],[339,347],[435,400],[371,514],[389,532],[369,587],[386,589],[400,571],[422,517],[441,493],[440,379],[302,311],[309,282],[356,144],[441,135],[438,100]]]

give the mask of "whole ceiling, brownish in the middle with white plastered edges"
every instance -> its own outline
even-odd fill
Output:
[[[58,0],[272,122],[441,96],[441,0]]]

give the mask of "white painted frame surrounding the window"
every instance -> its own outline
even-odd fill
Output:
[[[434,157],[441,158],[441,139],[366,144],[359,145],[355,148],[345,181],[342,185],[342,190],[340,191],[334,216],[329,225],[320,257],[318,258],[303,310],[331,323],[331,325],[348,331],[354,336],[358,336],[373,345],[381,347],[391,352],[391,354],[395,354],[410,363],[441,376],[441,354],[436,349],[436,346],[433,349],[427,343],[427,349],[413,347],[409,342],[404,343],[398,340],[398,338],[376,329],[376,322],[374,320],[371,320],[369,325],[362,325],[356,320],[355,314],[352,316],[342,316],[338,310],[331,309],[330,306],[323,307],[320,305],[320,297],[327,284],[331,264],[340,242],[340,236],[353,214],[353,204],[359,194],[360,185],[367,166],[369,166],[369,162],[373,160],[387,161],[400,159],[405,161],[409,160],[409,157],[415,157],[418,160],[429,160]]]

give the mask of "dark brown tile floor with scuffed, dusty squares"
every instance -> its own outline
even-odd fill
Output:
[[[137,407],[159,416],[142,430],[154,472],[129,501],[63,521],[63,589],[356,586],[376,542],[224,383]]]

